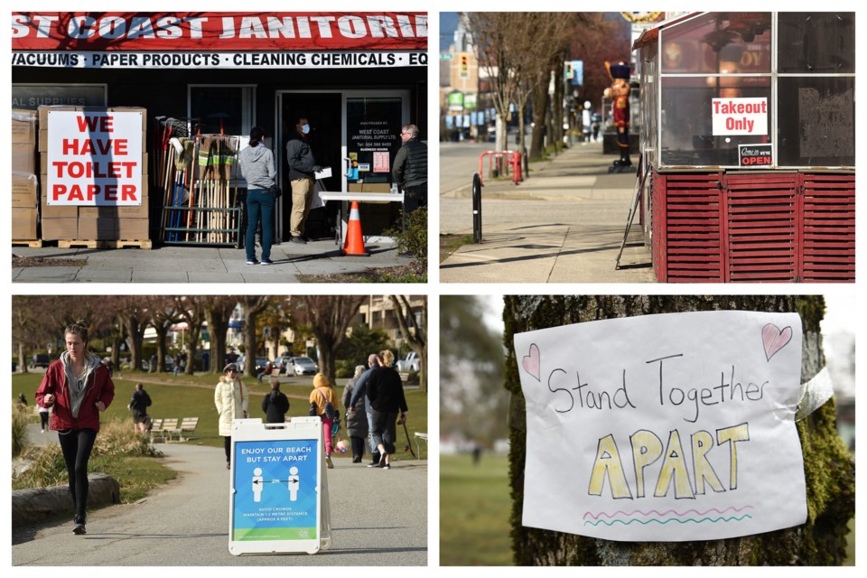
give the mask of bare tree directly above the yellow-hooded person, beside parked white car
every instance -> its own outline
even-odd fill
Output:
[[[333,381],[335,352],[346,339],[364,295],[304,295],[304,309],[319,346],[319,370]]]

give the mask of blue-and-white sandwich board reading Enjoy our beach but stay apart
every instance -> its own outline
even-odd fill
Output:
[[[232,423],[228,550],[315,554],[331,547],[322,420]]]

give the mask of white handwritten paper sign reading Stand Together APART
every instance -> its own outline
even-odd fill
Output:
[[[685,312],[515,335],[523,525],[624,541],[806,520],[797,313]]]

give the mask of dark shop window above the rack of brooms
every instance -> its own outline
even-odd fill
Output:
[[[249,135],[253,127],[254,88],[248,86],[190,86],[190,117],[199,119],[201,132]]]

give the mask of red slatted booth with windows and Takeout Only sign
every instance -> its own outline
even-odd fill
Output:
[[[854,281],[854,46],[853,13],[694,13],[641,34],[658,281]]]

